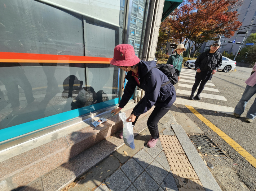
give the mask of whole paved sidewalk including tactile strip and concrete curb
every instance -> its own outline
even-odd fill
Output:
[[[173,115],[169,111],[159,121],[160,139],[154,148],[145,146],[151,137],[146,128],[134,136],[134,150],[121,146],[69,191],[221,191]]]

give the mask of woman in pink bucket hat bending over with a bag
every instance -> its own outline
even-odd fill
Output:
[[[147,127],[151,134],[151,139],[147,146],[153,148],[159,139],[157,124],[176,100],[175,88],[169,83],[167,76],[156,68],[154,61],[146,62],[140,60],[135,55],[131,45],[117,45],[114,49],[114,58],[110,61],[110,64],[126,71],[125,79],[128,80],[119,107],[112,110],[115,115],[127,104],[136,86],[145,91],[145,96],[133,108],[127,121],[130,120],[132,125],[135,125],[142,113],[146,113],[151,107],[155,106],[147,120]],[[122,139],[123,132],[119,136]]]

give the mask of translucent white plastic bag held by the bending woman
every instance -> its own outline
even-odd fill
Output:
[[[124,112],[119,113],[119,117],[121,118],[124,124],[124,129],[123,129],[124,144],[134,150],[135,145],[134,145],[132,122],[126,121],[126,116]]]

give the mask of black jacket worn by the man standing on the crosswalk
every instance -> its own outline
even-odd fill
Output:
[[[222,55],[220,52],[216,51],[214,54],[210,55],[210,50],[207,50],[199,55],[195,61],[195,70],[200,68],[201,71],[212,71],[219,69],[222,64]]]

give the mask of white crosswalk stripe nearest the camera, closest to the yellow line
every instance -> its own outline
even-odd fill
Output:
[[[230,115],[234,115],[233,107],[219,106],[219,105],[212,104],[212,103],[198,102],[198,101],[183,99],[183,98],[176,98],[176,101],[174,103],[180,104],[180,105],[197,107],[197,108],[204,109],[204,110],[211,110],[211,111],[217,111],[217,112],[221,112],[221,113],[227,113]]]

